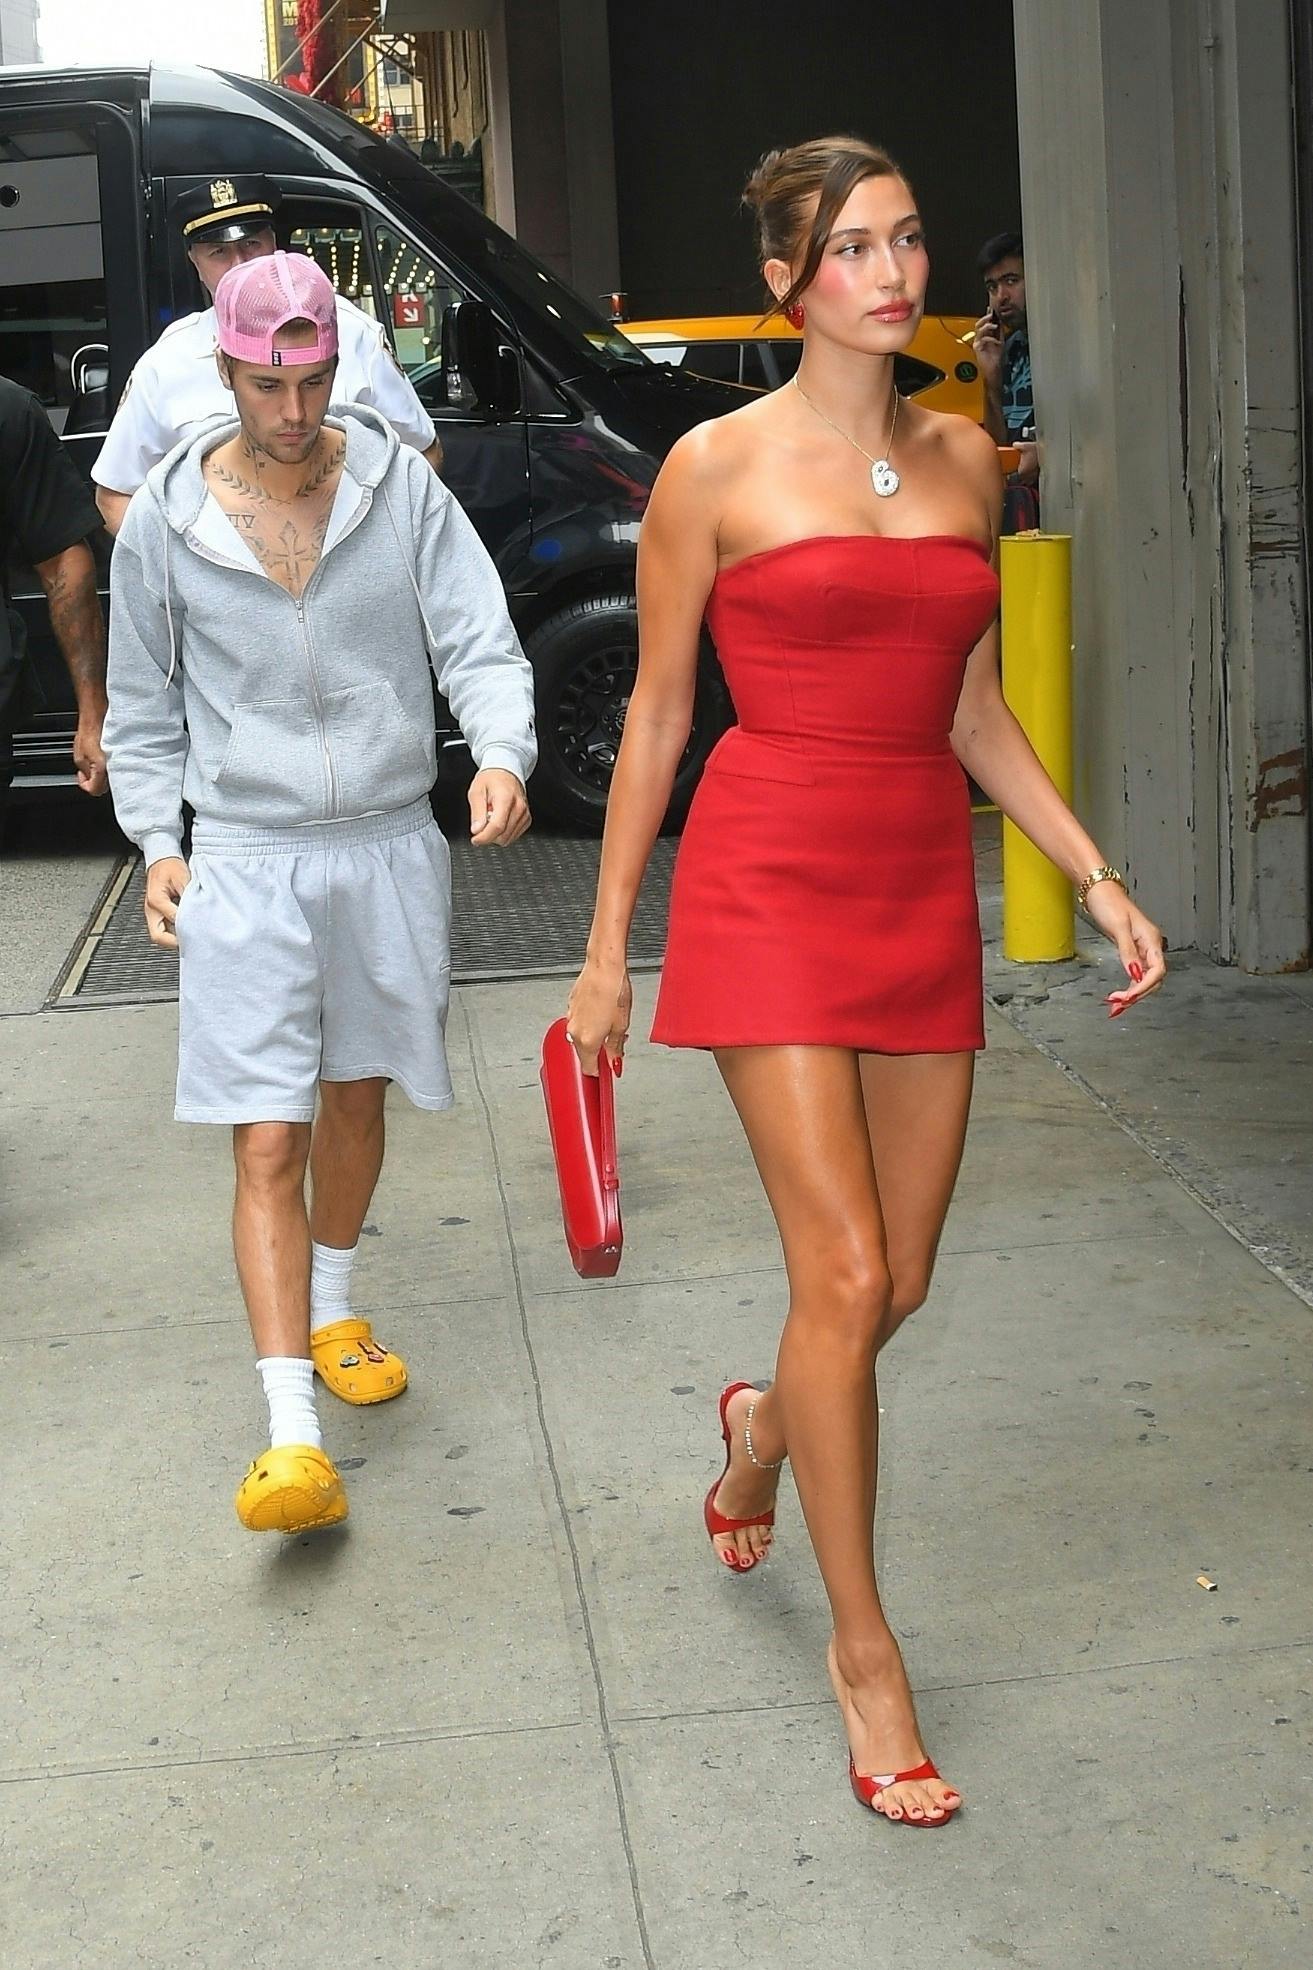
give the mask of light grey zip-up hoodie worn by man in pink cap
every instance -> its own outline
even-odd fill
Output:
[[[201,540],[201,461],[237,424],[162,459],[110,563],[114,812],[148,863],[207,821],[298,827],[392,812],[434,784],[430,658],[475,764],[528,780],[532,674],[493,561],[418,451],[361,406],[333,410],[359,500],[300,599]],[[223,538],[223,536],[219,536]]]

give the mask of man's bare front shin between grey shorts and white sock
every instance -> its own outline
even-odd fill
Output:
[[[233,1129],[233,1251],[256,1355],[310,1359],[310,1123],[250,1121]]]

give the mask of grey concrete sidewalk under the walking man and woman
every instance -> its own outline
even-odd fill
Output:
[[[970,1799],[915,1840],[848,1793],[793,1489],[749,1580],[702,1533],[785,1306],[737,1123],[635,1046],[625,1265],[576,1280],[560,1001],[459,993],[461,1105],[390,1107],[359,1284],[412,1387],[323,1397],[353,1515],[290,1543],[233,1515],[258,1383],[173,1009],[0,1020],[4,1960],[1307,1964],[1309,1308],[992,1013],[881,1369],[881,1578]]]

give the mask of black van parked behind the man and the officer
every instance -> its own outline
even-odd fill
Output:
[[[170,207],[233,171],[266,171],[284,197],[280,244],[311,252],[384,323],[536,672],[534,804],[599,825],[637,666],[639,520],[674,439],[743,392],[649,362],[410,152],[339,110],[209,69],[6,69],[0,374],[35,392],[83,471],[142,349],[205,305]],[[65,786],[69,682],[30,571],[14,597],[43,701],[18,741],[16,792]],[[727,717],[708,646],[672,812]]]

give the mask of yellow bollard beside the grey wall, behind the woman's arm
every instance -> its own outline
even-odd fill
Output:
[[[1071,534],[1005,534],[1000,577],[1003,697],[1071,802]],[[1005,820],[1003,957],[1023,965],[1074,957],[1074,920],[1067,877]]]

